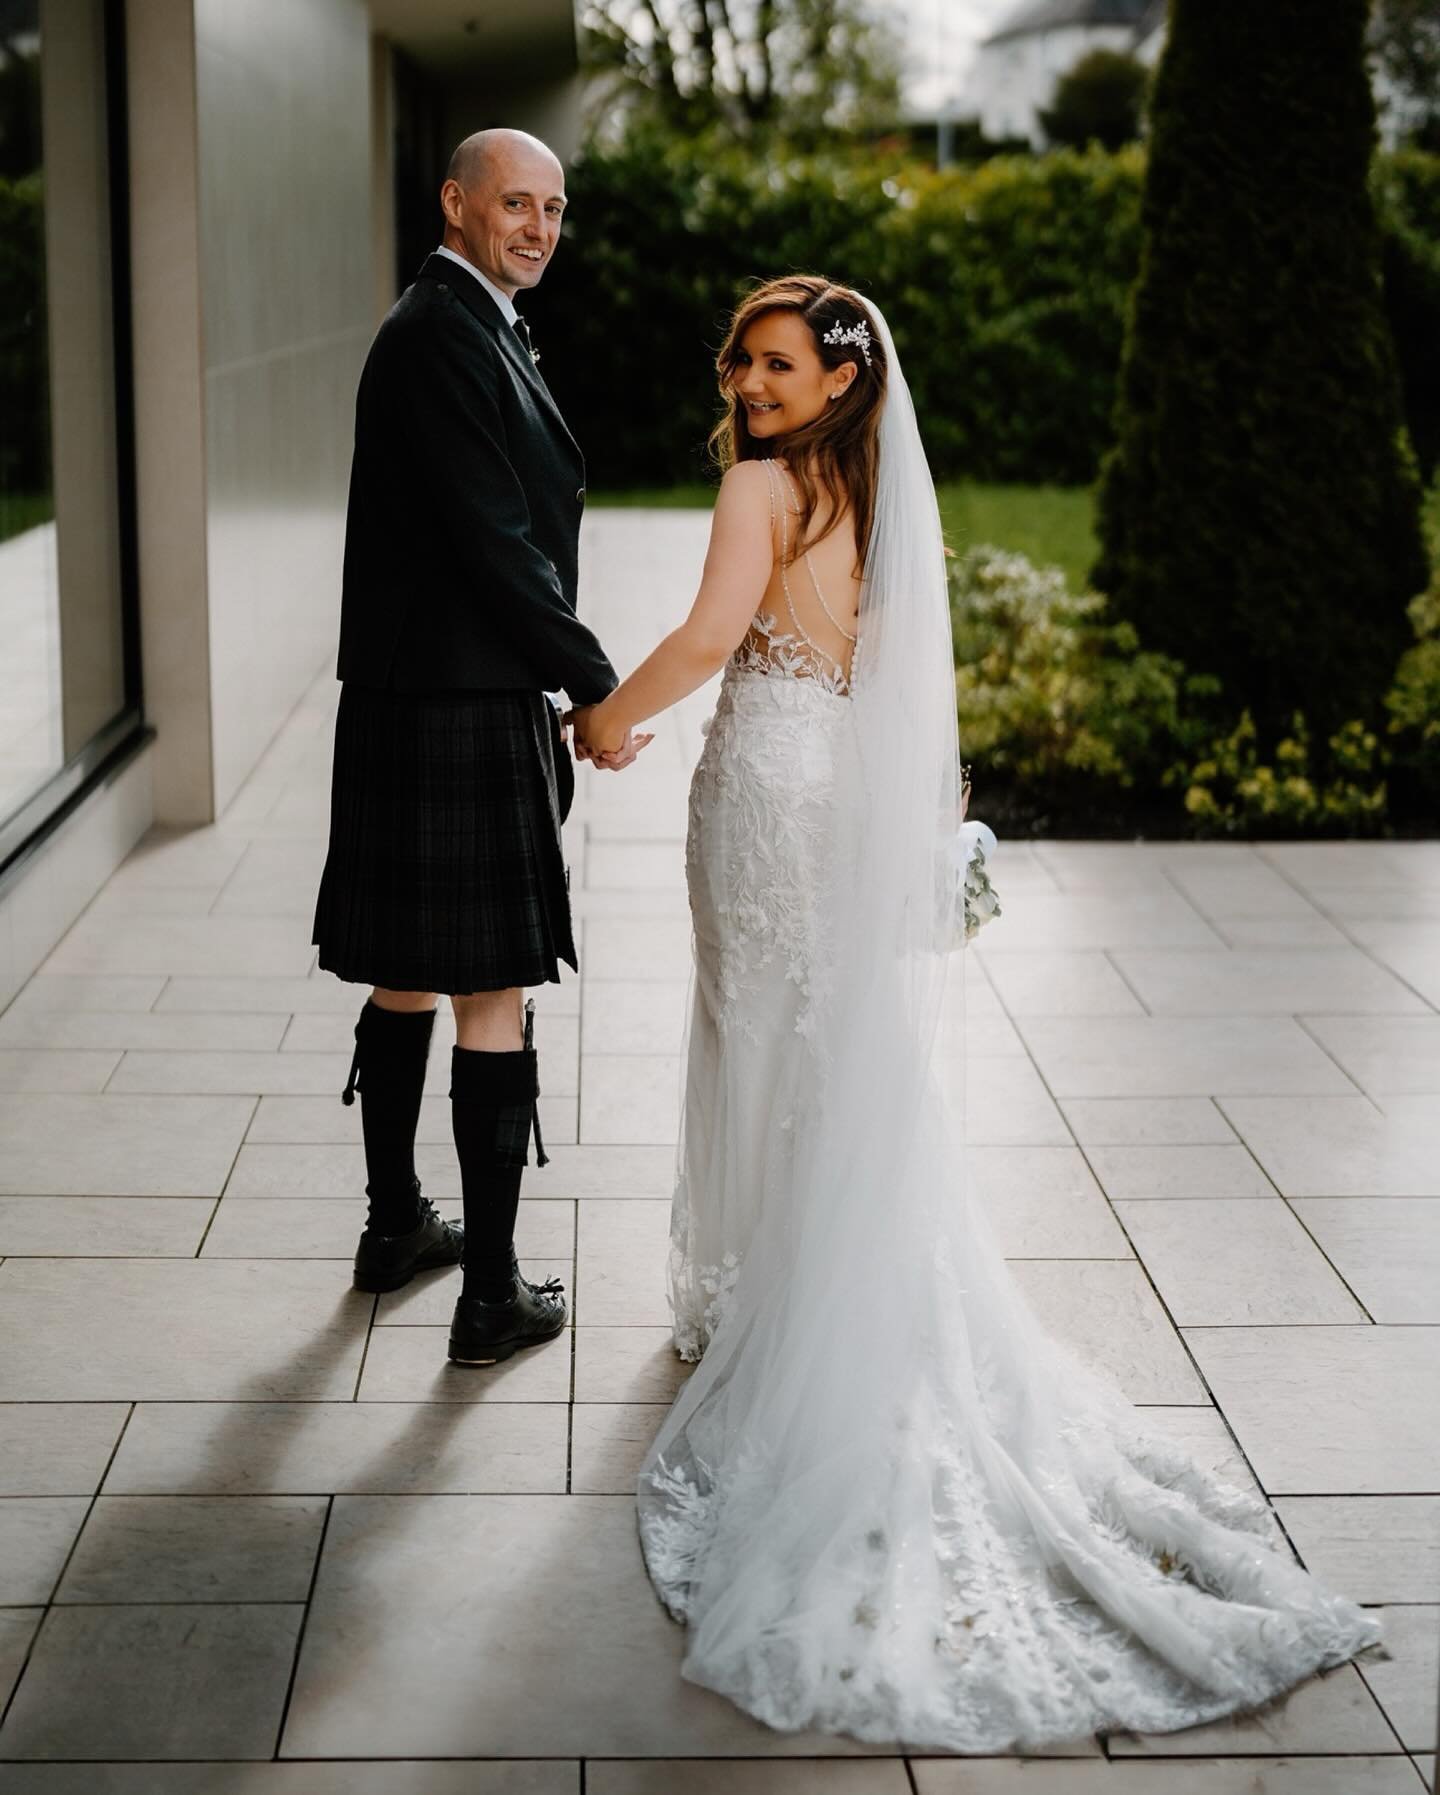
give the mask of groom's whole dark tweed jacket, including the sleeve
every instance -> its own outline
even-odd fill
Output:
[[[391,691],[616,686],[575,616],[585,463],[517,332],[433,255],[356,398],[339,677]]]

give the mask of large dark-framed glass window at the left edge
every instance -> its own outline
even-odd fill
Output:
[[[115,31],[0,0],[0,869],[138,722]]]

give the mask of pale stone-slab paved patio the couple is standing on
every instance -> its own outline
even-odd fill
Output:
[[[704,519],[601,512],[630,666]],[[677,1677],[630,1486],[663,1283],[693,700],[571,822],[521,1249],[576,1327],[445,1364],[454,1274],[348,1287],[359,993],[312,971],[336,686],[156,831],[0,1018],[4,1795],[1418,1795],[1440,1632],[1440,842],[1005,845],[968,955],[975,1174],[1047,1321],[1255,1477],[1393,1657],[1054,1757],[781,1738]],[[977,810],[984,813],[984,770]],[[431,1061],[426,1185],[458,1213]],[[11,1693],[13,1691],[13,1693]],[[341,1761],[341,1763],[338,1763]]]

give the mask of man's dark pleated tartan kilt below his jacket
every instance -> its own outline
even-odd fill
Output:
[[[506,991],[575,968],[555,723],[539,691],[345,686],[314,942],[390,991]]]

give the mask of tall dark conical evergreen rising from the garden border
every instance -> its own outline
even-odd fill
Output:
[[[1174,0],[1095,583],[1262,734],[1379,711],[1426,583],[1365,0]]]

